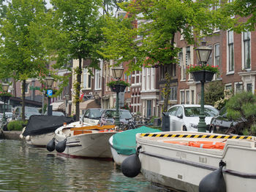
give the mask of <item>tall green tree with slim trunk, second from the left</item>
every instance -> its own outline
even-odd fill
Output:
[[[96,50],[102,41],[100,27],[103,20],[99,17],[100,0],[52,0],[53,29],[51,44],[56,50],[57,69],[62,68],[70,59],[78,59],[79,66],[74,69],[76,81],[73,84],[75,91],[75,115],[79,120],[80,84],[82,74],[82,60],[89,59],[90,66],[98,67]]]

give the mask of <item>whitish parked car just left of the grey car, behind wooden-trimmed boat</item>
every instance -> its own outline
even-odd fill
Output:
[[[99,124],[99,119],[102,117],[104,110],[99,108],[91,108],[84,112],[83,122],[89,123],[92,126]]]

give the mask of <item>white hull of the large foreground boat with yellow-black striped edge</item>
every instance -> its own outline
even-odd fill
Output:
[[[152,183],[178,191],[199,191],[203,177],[218,169],[223,160],[227,191],[255,190],[254,142],[227,141],[224,150],[209,150],[163,142],[170,140],[167,138],[141,137],[140,134],[136,137],[138,146],[142,147],[139,155],[141,172]]]

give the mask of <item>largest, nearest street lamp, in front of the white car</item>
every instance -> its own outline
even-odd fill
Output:
[[[200,64],[206,65],[208,62],[208,59],[211,55],[211,48],[206,46],[206,41],[203,39],[202,45],[200,47],[197,47],[195,49],[195,52],[197,53],[197,59]],[[203,74],[203,80],[201,82],[201,101],[200,101],[200,115],[199,115],[199,123],[197,126],[198,132],[206,132],[206,114],[204,110],[204,83],[205,80],[205,74]]]

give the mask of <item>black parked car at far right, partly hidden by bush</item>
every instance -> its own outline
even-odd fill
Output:
[[[219,115],[211,119],[210,132],[217,134],[239,134],[244,128],[246,119],[240,118],[233,120],[227,118],[227,110],[225,107],[219,111]]]

